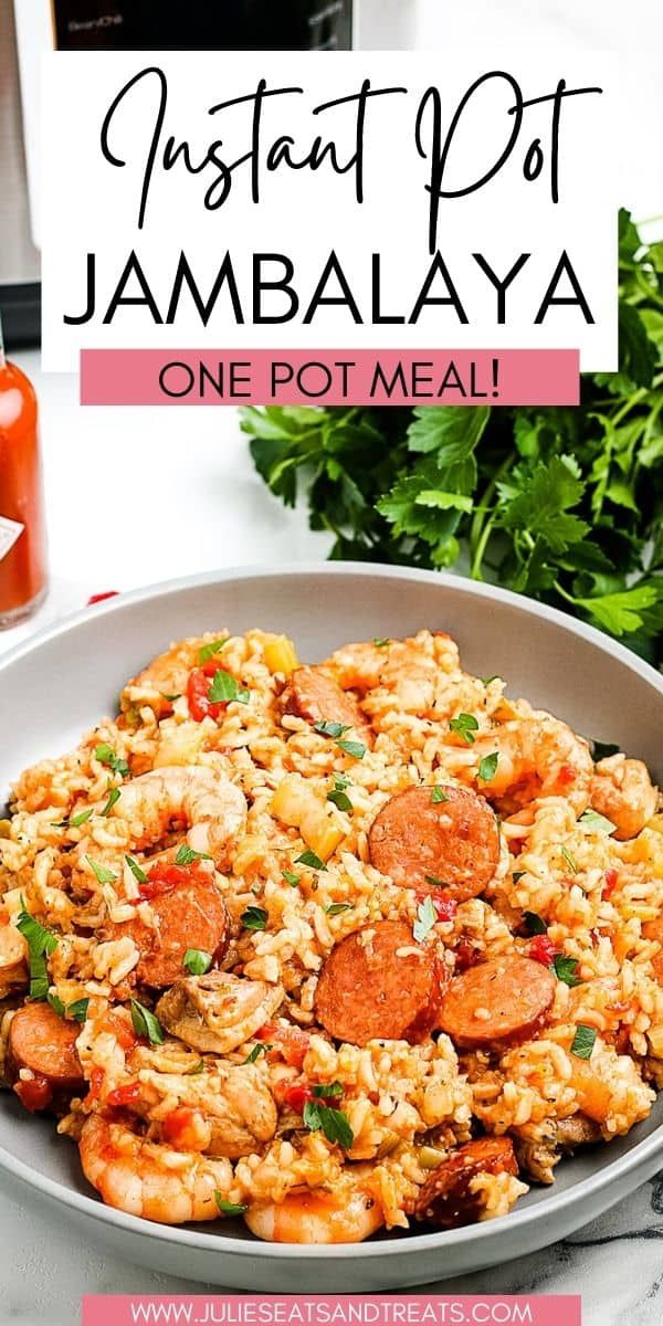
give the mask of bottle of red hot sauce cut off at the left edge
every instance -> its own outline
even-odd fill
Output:
[[[4,357],[0,329],[0,629],[16,626],[46,594],[46,537],[37,398]]]

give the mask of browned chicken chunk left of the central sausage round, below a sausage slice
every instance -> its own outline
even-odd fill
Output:
[[[229,972],[183,976],[162,994],[156,1017],[195,1050],[229,1054],[273,1017],[284,996],[282,985],[249,981]]]

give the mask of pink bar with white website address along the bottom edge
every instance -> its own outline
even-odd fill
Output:
[[[101,1294],[82,1326],[581,1326],[572,1294]]]

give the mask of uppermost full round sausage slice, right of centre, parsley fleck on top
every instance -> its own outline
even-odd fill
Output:
[[[487,801],[467,788],[407,788],[391,797],[369,831],[371,863],[394,883],[459,902],[476,898],[500,859],[497,821]]]

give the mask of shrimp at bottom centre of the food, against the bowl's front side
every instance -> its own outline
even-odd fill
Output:
[[[244,1220],[267,1242],[363,1242],[385,1224],[385,1213],[353,1176],[333,1192],[300,1189],[282,1201],[255,1201]]]

